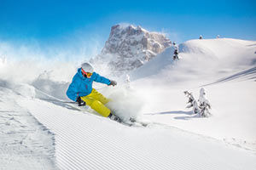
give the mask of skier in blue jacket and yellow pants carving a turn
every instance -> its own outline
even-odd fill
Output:
[[[89,105],[91,109],[98,112],[100,115],[109,117],[111,120],[121,122],[118,116],[113,115],[105,104],[109,99],[92,88],[93,82],[105,83],[108,86],[117,85],[117,82],[102,77],[94,71],[94,68],[89,63],[84,63],[78,72],[73,77],[73,81],[67,89],[67,97],[76,101],[79,106]]]

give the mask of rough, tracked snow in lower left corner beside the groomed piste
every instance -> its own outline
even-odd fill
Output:
[[[0,87],[0,169],[57,169],[54,134],[19,100],[20,95]]]

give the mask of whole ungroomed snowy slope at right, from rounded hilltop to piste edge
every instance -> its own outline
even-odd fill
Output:
[[[144,116],[195,133],[256,150],[256,42],[236,39],[191,40],[131,72],[131,87],[143,96]],[[199,98],[201,86],[212,103],[212,117],[200,118],[187,109],[189,90]],[[152,113],[153,112],[153,113]]]

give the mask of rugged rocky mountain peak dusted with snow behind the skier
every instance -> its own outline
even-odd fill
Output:
[[[120,75],[140,67],[171,46],[172,42],[164,34],[147,31],[141,26],[116,25],[112,26],[102,53],[91,62],[99,67],[107,64],[110,71]]]

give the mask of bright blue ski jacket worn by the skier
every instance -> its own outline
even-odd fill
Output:
[[[92,82],[102,82],[110,84],[110,80],[105,77],[101,77],[96,72],[93,72],[90,78],[86,78],[82,75],[81,68],[79,68],[77,74],[73,77],[73,80],[67,88],[67,97],[73,101],[77,101],[79,97],[86,96],[92,91]]]

